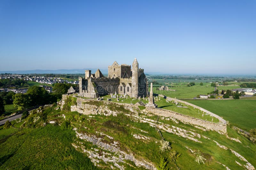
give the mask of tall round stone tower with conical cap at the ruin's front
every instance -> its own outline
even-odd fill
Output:
[[[132,97],[139,97],[139,63],[136,58],[132,63]]]

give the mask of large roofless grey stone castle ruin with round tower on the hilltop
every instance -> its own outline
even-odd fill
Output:
[[[148,80],[144,69],[139,69],[135,58],[131,65],[116,61],[108,66],[108,77],[98,69],[95,74],[85,70],[85,77],[79,77],[79,96],[98,98],[110,93],[128,95],[132,98],[148,96]]]

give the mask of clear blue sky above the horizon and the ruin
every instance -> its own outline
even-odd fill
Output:
[[[0,1],[0,71],[256,75],[256,0]]]

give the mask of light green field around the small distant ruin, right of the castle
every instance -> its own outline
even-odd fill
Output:
[[[156,85],[156,84],[153,85],[154,93],[163,94],[163,95],[165,94],[168,97],[172,97],[172,98],[176,97],[177,99],[192,99],[199,94],[207,94],[214,91],[214,87],[211,87],[211,83],[209,83],[209,80],[207,80],[208,83],[204,82],[203,80],[182,80],[182,82],[179,82],[179,80],[175,80],[175,79],[166,79],[166,80],[154,79],[154,80],[160,83],[160,85]],[[165,83],[172,83],[172,82],[173,82],[172,86],[174,87],[169,87],[169,89],[174,89],[176,90],[175,92],[156,90],[159,86],[165,85]],[[188,87],[187,86],[188,82],[195,82],[196,85]],[[200,82],[203,82],[203,85],[199,85]],[[217,87],[219,91],[235,89],[235,88],[239,88],[239,86]]]

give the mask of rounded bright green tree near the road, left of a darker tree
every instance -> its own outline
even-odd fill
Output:
[[[13,97],[13,106],[18,107],[18,110],[24,110],[29,107],[29,97],[27,94],[17,93]]]

